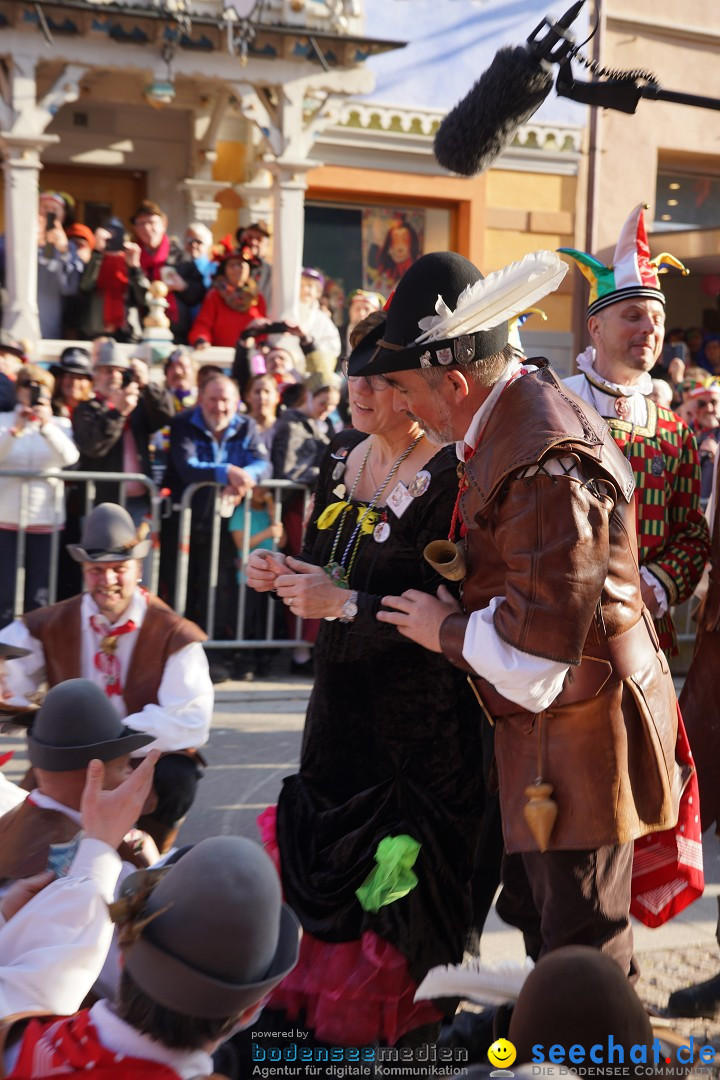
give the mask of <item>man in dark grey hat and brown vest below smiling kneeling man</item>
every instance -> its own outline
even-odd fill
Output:
[[[105,762],[104,785],[112,791],[130,775],[131,754],[147,752],[151,742],[152,735],[123,725],[87,679],[54,687],[31,716],[27,735],[37,786],[0,818],[0,882],[41,873],[52,846],[70,845],[80,829],[80,799],[93,759]]]

